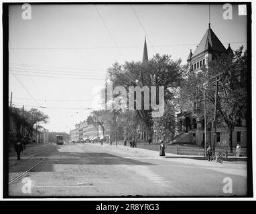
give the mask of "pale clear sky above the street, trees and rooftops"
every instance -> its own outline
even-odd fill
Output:
[[[247,16],[233,5],[223,19],[222,7],[210,5],[212,30],[226,48],[246,48]],[[22,11],[9,7],[9,97],[47,114],[43,126],[56,132],[86,120],[112,64],[141,61],[144,37],[149,58],[186,64],[209,23],[209,5],[31,5],[30,20]]]

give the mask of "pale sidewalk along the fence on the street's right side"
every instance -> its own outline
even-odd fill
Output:
[[[101,146],[101,144],[99,144]],[[208,158],[206,156],[197,156],[197,155],[184,155],[184,154],[173,154],[166,152],[166,156],[159,156],[159,151],[155,150],[148,150],[145,148],[131,148],[130,146],[124,146],[118,144],[115,146],[115,144],[103,144],[104,148],[107,148],[109,150],[118,151],[119,153],[127,154],[129,152],[130,154],[133,154],[134,156],[138,157],[148,157],[148,158],[190,158],[194,160],[207,160]],[[247,161],[246,156],[229,156],[224,157],[224,161]]]

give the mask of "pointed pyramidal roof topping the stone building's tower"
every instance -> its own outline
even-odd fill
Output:
[[[222,45],[221,41],[210,28],[210,23],[209,28],[207,29],[206,33],[204,33],[204,36],[202,37],[202,40],[200,41],[198,47],[196,47],[193,56],[197,56],[204,51],[227,51],[227,49],[224,47],[224,45]]]

